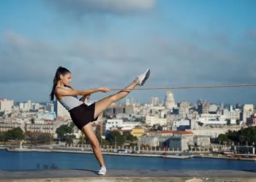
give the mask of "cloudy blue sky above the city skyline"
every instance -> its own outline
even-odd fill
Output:
[[[146,68],[144,87],[255,83],[255,7],[253,0],[0,1],[0,98],[47,101],[58,66],[72,71],[80,90],[121,88]],[[255,91],[173,90],[176,101],[192,103],[255,103]],[[165,92],[129,98],[146,103]]]

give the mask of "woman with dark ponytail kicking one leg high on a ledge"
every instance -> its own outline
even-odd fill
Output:
[[[102,113],[108,106],[116,101],[124,98],[133,90],[137,85],[143,85],[148,79],[150,70],[143,74],[140,74],[135,80],[125,87],[124,90],[117,92],[116,94],[109,95],[101,100],[92,103],[87,106],[84,101],[94,92],[109,92],[110,89],[106,87],[94,88],[89,90],[75,90],[70,86],[71,72],[67,68],[59,67],[53,79],[53,89],[50,93],[50,100],[53,100],[54,95],[56,99],[69,111],[74,124],[86,135],[91,141],[91,147],[94,151],[94,155],[97,158],[100,169],[98,174],[105,175],[107,172],[105,162],[102,157],[102,153],[99,147],[99,141],[94,134],[94,130],[91,127],[91,122],[97,120],[100,113]],[[83,95],[78,100],[77,95]]]

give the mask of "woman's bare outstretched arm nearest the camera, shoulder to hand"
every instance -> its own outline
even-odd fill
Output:
[[[61,96],[72,96],[72,95],[91,95],[94,92],[109,92],[110,90],[106,87],[88,89],[88,90],[66,90],[63,88],[56,88],[55,92],[58,97]]]

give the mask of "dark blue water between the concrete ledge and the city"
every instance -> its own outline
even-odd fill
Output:
[[[104,155],[108,169],[140,170],[256,170],[255,161],[230,159],[169,159]],[[0,150],[0,170],[40,170],[46,168],[97,170],[94,154],[59,152],[15,152]]]

